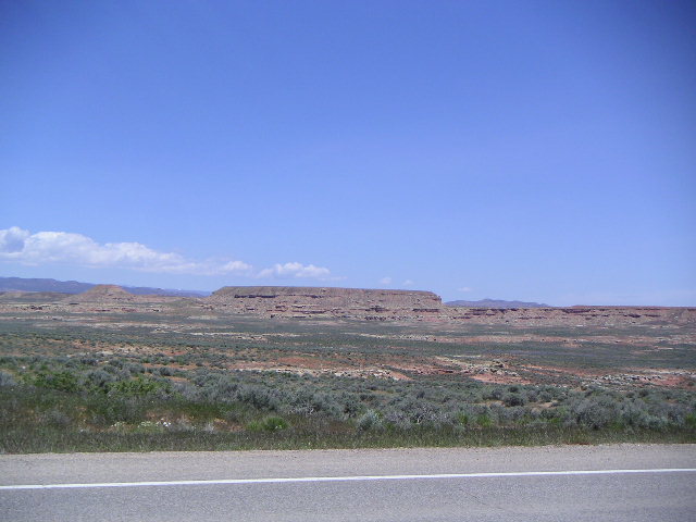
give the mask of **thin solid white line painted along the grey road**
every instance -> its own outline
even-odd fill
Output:
[[[574,471],[513,471],[500,473],[445,473],[435,475],[364,475],[364,476],[298,476],[286,478],[221,478],[213,481],[161,481],[161,482],[101,482],[86,484],[16,484],[0,486],[0,490],[12,489],[73,489],[95,487],[146,487],[146,486],[210,486],[219,484],[283,484],[299,482],[348,482],[348,481],[409,481],[428,478],[489,478],[501,476],[564,476],[564,475],[612,475],[622,473],[693,473],[696,468],[663,468],[654,470],[574,470]]]

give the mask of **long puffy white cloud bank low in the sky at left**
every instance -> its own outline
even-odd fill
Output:
[[[0,260],[28,265],[72,264],[90,269],[127,269],[141,272],[191,275],[243,275],[274,278],[334,278],[331,271],[313,264],[276,263],[256,271],[239,260],[190,260],[179,253],[159,252],[140,243],[99,244],[83,234],[37,232],[17,226],[0,229]]]

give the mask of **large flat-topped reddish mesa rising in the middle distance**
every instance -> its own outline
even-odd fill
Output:
[[[311,286],[225,286],[206,300],[213,304],[278,313],[361,311],[380,314],[407,310],[412,314],[443,308],[442,299],[432,291]]]

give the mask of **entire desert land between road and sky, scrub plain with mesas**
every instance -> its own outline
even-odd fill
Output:
[[[0,295],[0,450],[694,442],[696,308]]]

